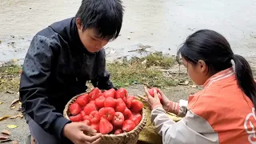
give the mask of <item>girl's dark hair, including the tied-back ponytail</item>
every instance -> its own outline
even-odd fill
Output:
[[[256,83],[250,65],[245,58],[233,53],[222,34],[214,30],[198,30],[186,38],[177,55],[194,64],[203,60],[210,70],[217,72],[230,68],[233,59],[238,86],[256,107]]]

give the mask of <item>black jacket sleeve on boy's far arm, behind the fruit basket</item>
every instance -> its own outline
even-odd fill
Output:
[[[98,87],[100,90],[114,88],[113,83],[110,82],[110,73],[106,70],[106,53],[104,49],[98,52],[96,66],[96,78],[91,80],[94,87]]]

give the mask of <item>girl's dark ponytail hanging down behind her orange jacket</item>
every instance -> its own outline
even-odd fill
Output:
[[[254,76],[246,58],[240,55],[234,54],[233,56],[235,64],[235,75],[238,80],[238,86],[242,91],[250,98],[256,107],[256,83]]]

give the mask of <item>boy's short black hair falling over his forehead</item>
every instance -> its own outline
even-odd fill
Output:
[[[123,11],[121,0],[82,0],[75,17],[81,18],[83,30],[94,28],[99,38],[111,41],[118,38]]]

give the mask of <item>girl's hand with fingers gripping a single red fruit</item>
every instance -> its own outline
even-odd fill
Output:
[[[151,109],[154,109],[156,106],[162,107],[162,104],[157,94],[157,90],[154,90],[154,98],[149,94],[149,91],[147,90],[146,86],[144,87],[144,90],[146,93],[146,97],[141,98],[144,99],[151,106]]]

